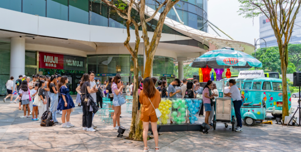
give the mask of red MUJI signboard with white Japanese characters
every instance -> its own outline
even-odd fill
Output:
[[[39,52],[39,68],[64,69],[64,55]]]

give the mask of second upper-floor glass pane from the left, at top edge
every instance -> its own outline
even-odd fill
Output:
[[[46,17],[46,1],[23,0],[22,12]]]

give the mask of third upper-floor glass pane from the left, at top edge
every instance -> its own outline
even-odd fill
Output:
[[[68,0],[47,0],[47,17],[68,21]]]

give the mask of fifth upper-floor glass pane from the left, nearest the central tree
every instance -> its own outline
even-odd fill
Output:
[[[92,1],[92,0],[91,0]],[[101,1],[90,2],[90,25],[106,26],[108,27],[108,7],[101,3]]]

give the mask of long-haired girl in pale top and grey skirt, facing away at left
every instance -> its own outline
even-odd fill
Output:
[[[22,85],[20,88],[20,97],[21,97],[21,105],[23,105],[24,115],[20,118],[30,118],[30,108],[29,108],[29,87],[26,80],[22,81]],[[26,115],[26,107],[28,109],[28,115]]]

